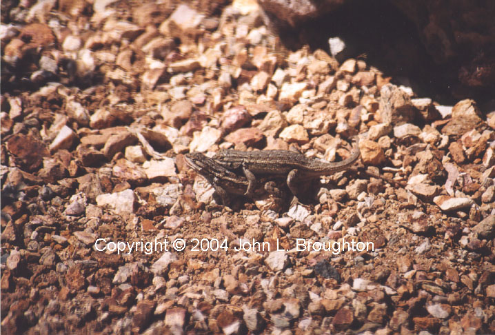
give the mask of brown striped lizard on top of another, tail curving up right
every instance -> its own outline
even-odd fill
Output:
[[[289,150],[220,150],[213,159],[232,173],[242,170],[247,179],[246,196],[256,188],[256,176],[287,176],[287,186],[296,196],[296,181],[304,181],[330,176],[347,170],[359,158],[358,137],[351,156],[343,161],[329,163],[320,159],[310,159],[299,152]]]

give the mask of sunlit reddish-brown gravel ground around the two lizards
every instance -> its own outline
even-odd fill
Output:
[[[495,333],[495,112],[263,22],[249,0],[2,2],[2,332]],[[296,205],[218,204],[183,159],[340,161],[357,134]]]

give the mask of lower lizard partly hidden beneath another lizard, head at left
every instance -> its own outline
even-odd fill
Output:
[[[194,171],[201,174],[212,185],[216,194],[221,198],[223,205],[230,203],[229,194],[245,196],[249,181],[245,176],[236,174],[214,159],[211,159],[201,152],[190,152],[184,155],[185,163]],[[274,197],[281,197],[281,191],[273,181],[263,181],[263,189],[258,188],[250,194],[254,199],[256,196],[269,194]]]

